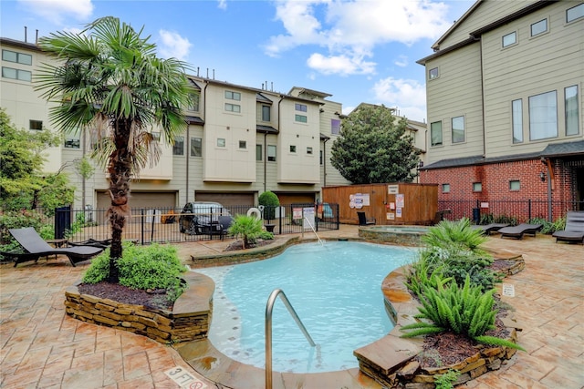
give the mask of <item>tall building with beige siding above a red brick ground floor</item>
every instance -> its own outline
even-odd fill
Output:
[[[418,61],[421,182],[439,200],[547,202],[532,216],[550,220],[584,209],[582,42],[581,1],[476,1]]]

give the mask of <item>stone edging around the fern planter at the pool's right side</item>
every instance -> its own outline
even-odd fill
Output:
[[[496,260],[495,260],[496,261]],[[515,274],[525,267],[521,256],[508,258],[511,265],[504,272]],[[515,271],[515,272],[512,272]],[[444,374],[448,370],[458,370],[461,375],[454,384],[464,384],[467,381],[497,370],[505,360],[511,358],[516,349],[503,346],[481,346],[477,353],[461,363],[444,365],[438,368],[422,368],[413,358],[422,352],[422,339],[401,338],[400,328],[415,322],[413,316],[418,313],[418,305],[405,286],[405,268],[392,271],[383,280],[381,289],[385,297],[386,310],[395,324],[391,333],[374,343],[370,343],[353,354],[357,357],[360,371],[369,375],[382,385],[389,387],[406,387],[407,389],[431,389],[434,387],[436,374]],[[503,320],[510,336],[507,340],[516,342],[516,331],[521,331],[513,318]]]

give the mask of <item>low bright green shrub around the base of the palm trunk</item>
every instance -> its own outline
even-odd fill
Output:
[[[176,249],[170,245],[135,246],[125,244],[118,261],[120,284],[132,289],[166,289],[170,302],[176,301],[186,285],[181,273],[186,271]],[[83,277],[83,282],[106,281],[110,273],[110,250],[99,254]]]

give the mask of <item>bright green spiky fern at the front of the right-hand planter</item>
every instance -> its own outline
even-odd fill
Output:
[[[413,337],[430,333],[452,331],[463,334],[478,343],[496,344],[524,350],[516,343],[495,336],[485,336],[488,330],[495,329],[494,289],[483,292],[479,287],[471,286],[470,277],[466,277],[461,288],[456,282],[450,282],[447,288],[439,285],[437,289],[422,285],[418,298],[422,306],[418,308],[417,319],[430,322],[414,322],[401,327],[402,337]]]

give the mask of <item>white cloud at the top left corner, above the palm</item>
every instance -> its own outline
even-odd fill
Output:
[[[32,14],[41,16],[58,26],[71,17],[87,21],[93,12],[91,0],[18,0]]]

